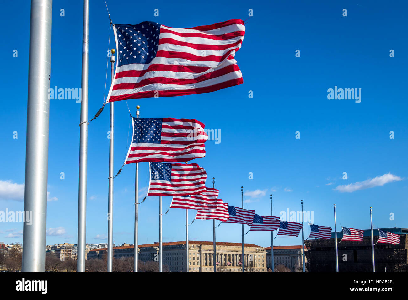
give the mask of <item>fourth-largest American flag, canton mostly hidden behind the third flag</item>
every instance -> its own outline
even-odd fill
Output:
[[[170,208],[217,209],[218,190],[206,187],[205,191],[195,195],[173,196]]]

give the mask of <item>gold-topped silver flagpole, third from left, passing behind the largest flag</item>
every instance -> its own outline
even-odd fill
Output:
[[[113,65],[115,64],[115,49],[111,49],[111,84],[113,83]],[[113,265],[113,103],[111,102],[111,122],[109,127],[109,188],[108,188],[108,272]]]

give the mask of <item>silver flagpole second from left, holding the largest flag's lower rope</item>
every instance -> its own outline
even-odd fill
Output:
[[[86,164],[88,158],[88,42],[89,0],[84,0],[84,23],[82,26],[82,78],[81,123],[79,142],[79,189],[78,189],[78,260],[77,272],[85,272],[86,256]]]

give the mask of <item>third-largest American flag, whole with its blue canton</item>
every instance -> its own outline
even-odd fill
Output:
[[[207,173],[198,164],[150,163],[148,196],[184,196],[206,190]]]

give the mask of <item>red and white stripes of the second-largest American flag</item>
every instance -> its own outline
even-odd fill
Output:
[[[133,135],[135,124],[132,118]],[[185,162],[205,156],[208,139],[204,123],[195,119],[162,119],[160,144],[132,143],[125,164],[133,162]],[[133,141],[133,139],[132,139]]]

